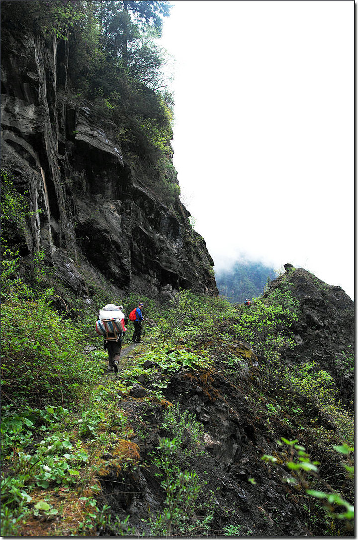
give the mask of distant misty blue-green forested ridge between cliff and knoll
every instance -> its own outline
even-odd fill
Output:
[[[240,303],[263,294],[267,278],[276,279],[276,274],[273,268],[251,261],[237,261],[229,270],[215,270],[219,294]]]

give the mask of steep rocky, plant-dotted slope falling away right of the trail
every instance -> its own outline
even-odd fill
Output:
[[[188,505],[177,516],[177,534],[180,524],[188,536],[190,530],[194,536],[353,534],[348,522],[335,520],[319,500],[306,494],[309,487],[332,489],[352,502],[353,481],[346,480],[345,461],[333,448],[345,441],[352,444],[353,407],[352,402],[347,401],[347,408],[343,403],[349,385],[339,377],[334,381],[329,372],[335,375],[334,366],[339,365],[335,353],[352,347],[353,302],[339,287],[302,268],[285,266],[286,273],[250,309],[239,306],[231,315],[218,318],[214,334],[203,327],[196,330],[193,341],[189,338],[193,330],[185,326],[187,335],[178,340],[180,351],[174,345],[167,347],[166,361],[155,352],[149,362],[148,354],[136,358],[135,365],[143,367],[140,384],[129,396],[123,395],[122,406],[134,429],[138,468],[135,476],[121,476],[127,496],[116,487],[117,465],[111,458],[101,481],[114,515],[123,521],[129,515],[128,527],[139,534],[153,534],[156,526],[163,531],[164,524],[168,527],[163,519],[168,491],[163,490],[167,484],[161,483],[160,466],[169,452],[164,437],[172,440],[171,474],[175,474],[174,464],[180,463],[181,470],[196,472],[199,486],[195,511]],[[255,319],[260,306],[267,311]],[[272,313],[270,326],[263,326]],[[198,325],[202,318],[197,316]],[[329,327],[334,328],[331,333]],[[297,344],[286,348],[291,338]],[[275,341],[283,344],[279,351]],[[170,368],[175,357],[199,352],[206,355],[201,365]],[[149,405],[140,398],[145,400],[159,382],[144,368],[156,377],[160,374],[160,380],[167,377],[162,390],[165,400]],[[173,421],[168,421],[173,415],[170,403],[177,407]],[[205,432],[199,449],[198,425]],[[282,437],[286,442],[281,442]],[[307,454],[302,453],[304,448]],[[300,460],[309,462],[302,475]],[[308,467],[315,468],[315,476],[307,474]]]

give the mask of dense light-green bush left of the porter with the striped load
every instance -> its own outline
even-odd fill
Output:
[[[75,400],[80,383],[99,373],[81,353],[82,335],[51,308],[52,294],[47,289],[36,301],[13,293],[3,302],[3,404],[65,406]]]

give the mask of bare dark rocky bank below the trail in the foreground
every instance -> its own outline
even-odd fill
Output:
[[[278,445],[265,424],[252,414],[245,394],[238,387],[216,370],[178,372],[171,376],[164,392],[168,400],[179,402],[181,410],[188,411],[205,430],[200,451],[181,455],[188,444],[190,447],[190,433],[185,429],[178,456],[183,467],[195,470],[201,479],[196,519],[211,515],[209,536],[216,536],[229,524],[235,525],[243,535],[310,534],[305,516],[283,482],[286,471],[280,466],[271,469],[261,460],[263,454],[276,452]],[[132,440],[139,447],[139,463],[145,466],[139,465],[130,480],[121,478],[121,482],[130,486],[126,491],[132,495],[127,501],[122,494],[115,495],[118,478],[113,478],[112,483],[107,473],[101,479],[104,496],[116,516],[125,519],[129,515],[130,526],[139,535],[148,536],[149,517],[161,513],[165,498],[153,457],[160,438],[169,436],[161,426],[166,404],[126,399],[121,405],[134,427],[140,418],[141,426],[148,428],[145,438]],[[204,536],[199,531],[197,537]]]

